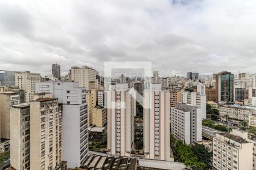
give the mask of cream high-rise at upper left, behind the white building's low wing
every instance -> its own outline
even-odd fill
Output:
[[[30,71],[15,73],[15,86],[24,90],[24,101],[34,100],[36,82],[40,82],[40,74]]]

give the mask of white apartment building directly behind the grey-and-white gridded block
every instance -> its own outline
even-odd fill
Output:
[[[185,91],[181,95],[181,102],[185,104],[195,105],[201,109],[201,118],[206,118],[206,96],[200,95],[200,92]]]

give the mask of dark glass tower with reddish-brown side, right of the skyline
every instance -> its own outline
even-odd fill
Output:
[[[222,71],[216,74],[216,101],[233,102],[234,98],[234,74]]]

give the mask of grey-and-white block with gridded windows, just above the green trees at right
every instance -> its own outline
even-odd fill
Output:
[[[195,105],[178,103],[171,108],[171,133],[187,145],[202,141],[202,118]]]

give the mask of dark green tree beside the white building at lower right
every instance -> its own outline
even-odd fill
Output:
[[[208,168],[210,167],[212,152],[210,152],[208,147],[195,144],[192,145],[192,151],[197,156],[197,159],[199,159],[199,161],[203,162]]]

